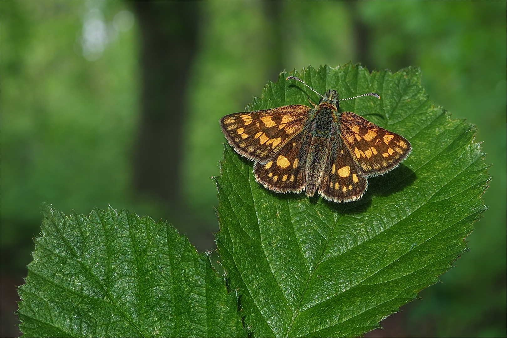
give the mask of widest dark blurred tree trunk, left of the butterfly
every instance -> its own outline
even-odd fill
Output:
[[[134,160],[137,193],[178,208],[187,82],[196,54],[198,2],[136,1],[141,33],[141,119]]]

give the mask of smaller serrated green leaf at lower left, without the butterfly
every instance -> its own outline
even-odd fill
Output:
[[[43,207],[18,316],[26,336],[244,335],[235,294],[166,222]]]

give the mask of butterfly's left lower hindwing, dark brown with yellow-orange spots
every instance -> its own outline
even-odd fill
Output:
[[[277,193],[300,193],[305,189],[306,159],[301,159],[300,135],[287,142],[268,163],[256,162],[253,173],[256,181]]]

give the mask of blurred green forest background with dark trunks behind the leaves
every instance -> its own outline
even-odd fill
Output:
[[[0,335],[43,202],[126,208],[214,248],[224,137],[268,80],[311,64],[419,66],[477,125],[490,209],[443,283],[368,336],[505,336],[506,2],[0,3]]]

